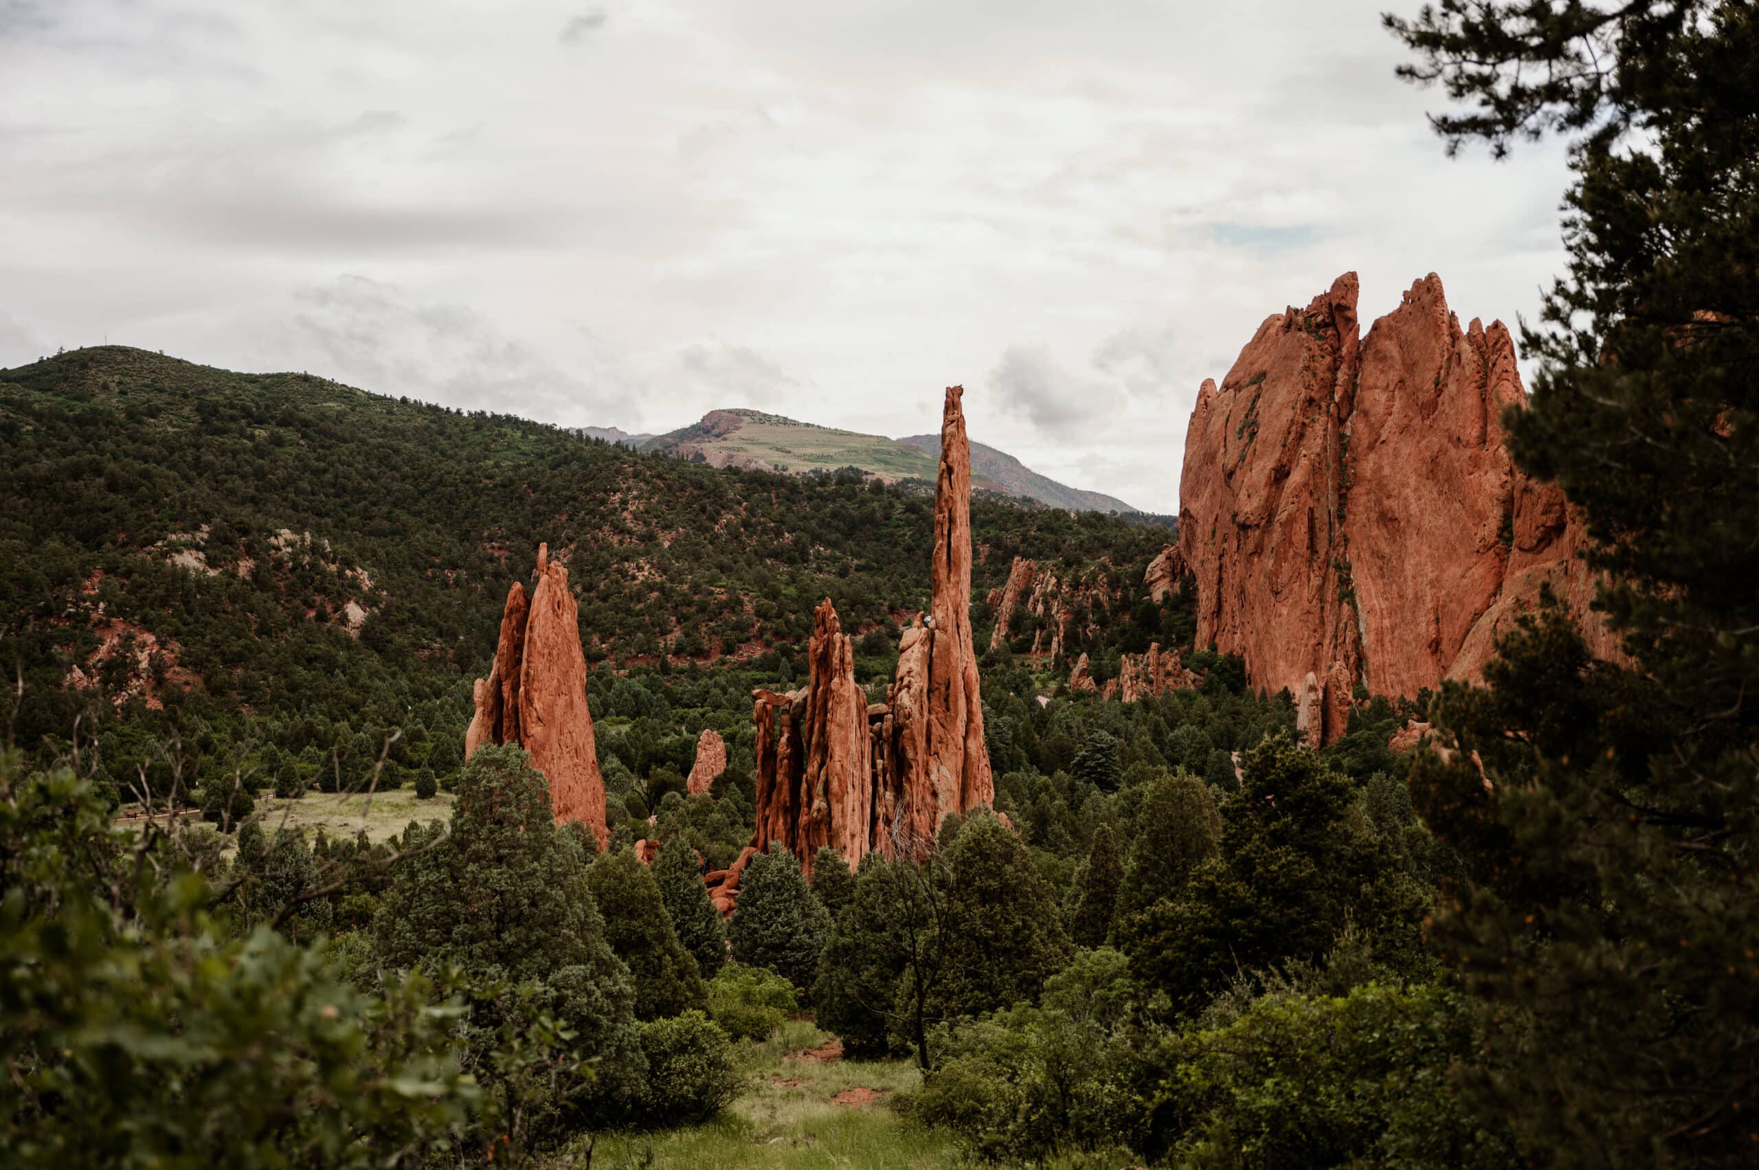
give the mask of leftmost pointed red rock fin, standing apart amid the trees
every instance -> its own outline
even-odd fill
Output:
[[[579,820],[605,848],[605,781],[598,774],[593,713],[586,706],[586,654],[568,570],[538,545],[531,600],[521,582],[507,591],[501,640],[487,679],[477,679],[477,713],[464,758],[478,746],[524,744],[551,785],[556,823]]]

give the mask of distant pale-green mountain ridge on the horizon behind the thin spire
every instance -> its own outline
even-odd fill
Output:
[[[941,456],[939,445],[939,435],[887,438],[758,410],[711,410],[691,426],[649,440],[642,450],[716,468],[793,475],[858,468],[888,484],[902,479],[932,484]],[[1025,468],[1013,456],[982,443],[971,443],[971,477],[978,489],[1075,512],[1135,512],[1122,500],[1066,487]]]

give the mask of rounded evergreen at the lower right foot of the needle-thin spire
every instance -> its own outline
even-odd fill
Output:
[[[1025,841],[992,815],[973,813],[946,850],[945,975],[948,1017],[1036,999],[1069,959],[1055,892]]]

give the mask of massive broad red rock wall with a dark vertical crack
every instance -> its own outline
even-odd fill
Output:
[[[1500,322],[1460,329],[1427,276],[1360,338],[1356,276],[1265,320],[1186,436],[1180,554],[1198,646],[1289,688],[1312,742],[1344,734],[1356,683],[1416,695],[1478,677],[1550,581],[1588,614],[1562,494],[1514,468],[1499,413],[1525,405]]]

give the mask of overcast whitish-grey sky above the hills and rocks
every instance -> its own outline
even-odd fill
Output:
[[[939,426],[1177,512],[1258,324],[1562,269],[1416,0],[0,0],[0,366],[135,345],[565,426]]]

